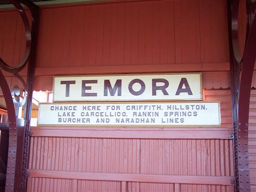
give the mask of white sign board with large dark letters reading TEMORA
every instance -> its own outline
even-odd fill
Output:
[[[201,73],[55,76],[53,101],[202,100]]]

